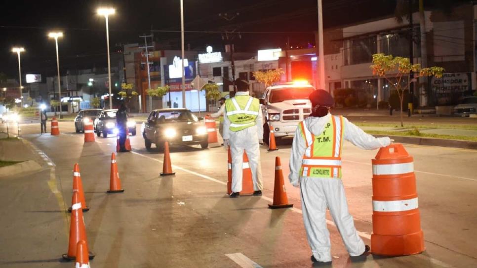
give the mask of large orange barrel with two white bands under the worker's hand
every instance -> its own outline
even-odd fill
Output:
[[[418,208],[414,160],[404,146],[381,148],[373,164],[371,252],[403,256],[425,250]]]

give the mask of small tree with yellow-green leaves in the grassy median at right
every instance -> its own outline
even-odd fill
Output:
[[[412,71],[414,78],[422,76],[436,76],[442,77],[444,68],[442,67],[427,67],[422,68],[420,64],[411,64],[408,58],[393,57],[393,55],[385,55],[383,53],[373,55],[373,65],[370,66],[374,75],[384,77],[391,88],[394,88],[399,96],[400,102],[400,119],[401,127],[404,126],[402,122],[402,102],[404,101],[404,92],[409,90],[409,85],[412,81],[402,84],[402,78],[405,78]],[[395,79],[396,81],[391,81]]]

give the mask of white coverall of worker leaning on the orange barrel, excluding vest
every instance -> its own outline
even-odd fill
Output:
[[[308,117],[305,125],[308,130],[319,135],[331,120],[331,114],[323,117]],[[364,133],[356,125],[343,118],[343,137],[361,149],[373,150],[388,146],[389,137],[375,138]],[[330,238],[326,227],[326,208],[341,234],[350,256],[359,256],[364,252],[363,240],[358,236],[353,217],[348,212],[343,182],[339,178],[308,177],[300,174],[303,156],[307,149],[306,141],[299,128],[293,138],[290,155],[290,183],[300,187],[303,222],[313,256],[318,262],[330,262]]]

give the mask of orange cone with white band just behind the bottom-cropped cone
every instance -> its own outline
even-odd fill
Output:
[[[83,220],[83,211],[81,209],[80,195],[78,191],[73,192],[73,210],[71,213],[71,222],[70,222],[70,241],[68,244],[68,253],[63,254],[63,259],[65,260],[75,260],[77,253],[77,245],[80,240],[86,240],[86,229],[84,227]],[[93,253],[88,254],[89,259],[94,258]]]

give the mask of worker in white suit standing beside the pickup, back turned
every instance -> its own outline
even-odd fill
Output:
[[[232,154],[232,194],[236,198],[242,191],[243,152],[247,153],[248,165],[252,171],[253,195],[262,195],[262,171],[260,165],[260,144],[263,139],[262,112],[260,102],[248,92],[248,83],[236,81],[235,97],[225,101],[224,146],[230,145]]]

